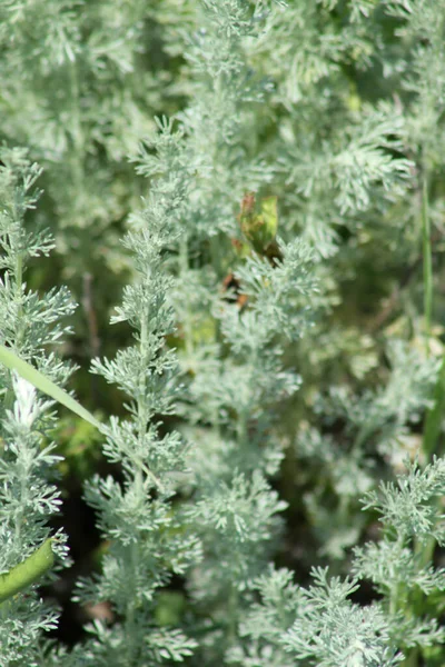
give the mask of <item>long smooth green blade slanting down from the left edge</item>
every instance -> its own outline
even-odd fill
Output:
[[[0,362],[3,364],[10,370],[16,370],[19,376],[24,380],[28,380],[36,389],[40,389],[58,402],[62,404],[66,408],[79,415],[86,421],[89,421],[92,426],[96,426],[99,430],[101,424],[86,410],[75,398],[72,398],[67,391],[60,389],[55,382],[49,380],[37,368],[20,359],[12,350],[0,345]]]

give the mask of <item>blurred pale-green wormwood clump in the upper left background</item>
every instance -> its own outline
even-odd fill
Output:
[[[81,359],[99,354],[98,327],[112,302],[106,295],[125,271],[122,220],[139,206],[140,181],[126,156],[155,128],[154,116],[177,110],[184,94],[172,76],[178,57],[164,49],[160,9],[166,21],[175,2],[0,2],[0,140],[27,147],[44,169],[36,217],[56,239],[52,270],[81,306]],[[41,286],[44,276],[34,280]],[[92,303],[95,288],[102,297]]]

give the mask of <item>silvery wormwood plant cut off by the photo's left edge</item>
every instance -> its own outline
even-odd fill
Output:
[[[27,289],[24,271],[31,257],[48,255],[53,247],[44,232],[27,232],[23,218],[34,207],[34,182],[40,175],[22,149],[1,150],[0,245],[1,245],[1,342],[41,372],[63,385],[72,369],[62,364],[47,345],[57,345],[70,331],[61,318],[73,303],[66,289],[53,289],[42,299]],[[0,435],[0,663],[36,665],[41,657],[40,633],[55,628],[57,615],[33,590],[19,594],[42,575],[57,551],[67,563],[66,537],[53,536],[48,521],[60,511],[60,491],[55,485],[53,442],[42,447],[43,435],[56,422],[52,404],[36,396],[31,385],[1,369]],[[59,560],[58,558],[58,560]],[[60,561],[60,560],[59,560]]]

